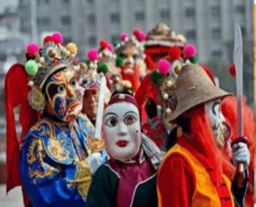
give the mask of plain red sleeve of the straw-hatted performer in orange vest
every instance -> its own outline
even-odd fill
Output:
[[[190,163],[178,153],[166,159],[158,176],[159,207],[189,207],[196,186]]]

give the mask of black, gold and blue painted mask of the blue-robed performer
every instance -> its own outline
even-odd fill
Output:
[[[61,121],[71,122],[82,110],[80,93],[74,72],[68,68],[54,73],[46,82],[47,101],[54,115]]]

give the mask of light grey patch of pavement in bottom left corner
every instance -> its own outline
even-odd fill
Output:
[[[21,187],[16,187],[6,195],[5,185],[0,185],[0,206],[23,207]]]

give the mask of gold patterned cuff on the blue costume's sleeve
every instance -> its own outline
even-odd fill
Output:
[[[69,187],[77,187],[78,193],[81,195],[83,200],[86,200],[89,187],[91,185],[91,171],[87,161],[77,162],[77,172],[75,180],[68,180]]]

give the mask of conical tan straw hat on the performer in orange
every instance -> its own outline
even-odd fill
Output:
[[[184,65],[178,74],[177,88],[178,104],[170,114],[169,121],[177,119],[179,115],[199,104],[231,95],[217,88],[198,64]]]

